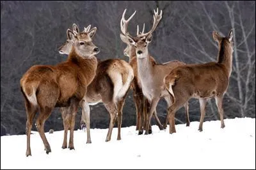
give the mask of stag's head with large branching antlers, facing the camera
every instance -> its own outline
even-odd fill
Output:
[[[128,20],[124,19],[125,12],[126,12],[126,9],[124,10],[124,13],[122,15],[122,19],[120,22],[120,27],[121,27],[121,31],[122,31],[122,34],[120,35],[120,37],[123,42],[127,43],[127,48],[125,50],[127,51],[127,49],[129,49],[129,46],[133,45],[136,49],[136,56],[138,58],[144,58],[147,55],[142,55],[142,54],[143,53],[147,54],[148,44],[152,41],[152,33],[156,29],[157,24],[162,19],[163,12],[161,10],[161,12],[159,13],[158,8],[157,8],[157,11],[154,10],[154,24],[153,24],[152,28],[150,29],[150,31],[148,31],[148,33],[144,33],[145,24],[143,24],[143,29],[141,32],[139,31],[139,26],[137,26],[137,36],[136,37],[129,35],[129,33],[127,32],[128,22],[129,22],[129,20],[131,20],[131,18],[135,14],[135,12],[132,14],[132,16]],[[124,51],[124,53],[126,51]]]

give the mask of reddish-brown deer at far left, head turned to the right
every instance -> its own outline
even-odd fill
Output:
[[[46,153],[51,147],[44,134],[44,123],[51,115],[54,107],[68,107],[70,120],[70,140],[68,148],[74,149],[74,125],[79,102],[83,99],[87,86],[96,75],[99,48],[92,43],[96,27],[90,33],[74,35],[68,29],[67,36],[74,42],[67,61],[57,65],[35,65],[29,68],[20,79],[20,88],[25,99],[27,112],[26,156],[31,155],[30,133],[35,114],[36,128],[42,138]]]

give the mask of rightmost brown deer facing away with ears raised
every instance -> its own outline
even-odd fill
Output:
[[[222,102],[232,72],[233,32],[231,29],[227,37],[221,37],[213,31],[212,36],[219,46],[216,62],[179,66],[166,77],[165,86],[174,98],[173,104],[168,108],[170,134],[176,132],[175,112],[192,97],[199,98],[200,101],[199,131],[203,130],[206,101],[213,97],[220,114],[221,128],[225,127]]]

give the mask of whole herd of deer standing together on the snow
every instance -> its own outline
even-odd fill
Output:
[[[121,139],[122,109],[125,96],[131,87],[136,105],[136,130],[138,134],[151,134],[150,120],[156,118],[158,127],[163,130],[170,124],[170,134],[175,130],[175,112],[184,105],[186,109],[186,125],[189,126],[188,100],[198,98],[200,102],[200,125],[202,131],[207,99],[215,98],[220,114],[221,128],[223,121],[223,95],[228,88],[228,80],[232,72],[232,30],[227,37],[212,32],[213,39],[218,42],[219,52],[216,62],[204,64],[185,64],[174,60],[158,64],[148,53],[148,44],[152,41],[152,33],[162,19],[162,11],[154,10],[154,24],[148,33],[140,32],[131,36],[127,31],[129,21],[136,11],[125,19],[125,12],[120,21],[122,42],[127,44],[124,55],[129,63],[122,59],[98,61],[95,57],[100,52],[92,38],[97,27],[79,27],[73,24],[67,29],[67,42],[60,47],[60,54],[68,54],[67,61],[57,65],[35,65],[29,68],[20,79],[20,89],[24,95],[27,122],[26,156],[31,155],[30,134],[35,114],[36,128],[42,138],[46,153],[51,147],[44,134],[44,123],[51,115],[54,107],[60,107],[63,118],[64,140],[62,148],[67,148],[67,132],[70,130],[68,148],[74,149],[74,125],[76,112],[82,108],[81,125],[86,126],[87,142],[90,138],[90,107],[102,102],[110,114],[110,123],[106,142],[111,139],[115,121],[118,122],[117,140]],[[168,105],[168,114],[164,125],[157,118],[156,106],[160,98]]]

